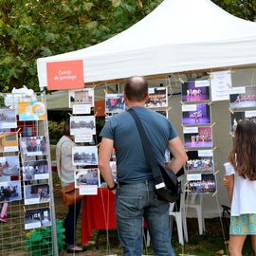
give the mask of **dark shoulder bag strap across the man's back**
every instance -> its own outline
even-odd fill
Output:
[[[133,119],[136,122],[137,131],[138,131],[141,143],[142,143],[144,154],[145,154],[146,160],[148,161],[148,163],[152,169],[153,177],[155,179],[155,186],[156,186],[157,184],[162,183],[164,181],[163,181],[161,171],[158,167],[158,163],[156,161],[155,154],[152,150],[152,144],[151,144],[149,138],[146,136],[144,127],[142,125],[141,120],[138,118],[136,111],[133,108],[130,108],[128,110],[128,112],[131,114],[131,116],[133,117]]]

